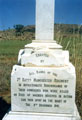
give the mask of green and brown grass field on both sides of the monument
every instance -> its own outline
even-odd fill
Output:
[[[82,116],[82,36],[77,35],[62,37],[55,35],[56,40],[63,46],[63,49],[69,50],[70,61],[76,67],[77,89],[76,103]],[[24,45],[31,40],[2,40],[0,41],[0,96],[10,104],[10,74],[12,66],[17,64],[18,52],[24,48]]]

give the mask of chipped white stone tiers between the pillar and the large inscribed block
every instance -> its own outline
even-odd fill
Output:
[[[69,52],[57,43],[32,43],[20,50],[18,63],[27,66],[61,67],[69,64]],[[60,48],[60,49],[59,49]]]

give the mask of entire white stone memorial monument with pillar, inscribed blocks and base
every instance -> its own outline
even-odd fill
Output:
[[[11,111],[3,120],[80,120],[76,73],[54,41],[54,0],[36,0],[36,40],[20,50],[11,73]]]

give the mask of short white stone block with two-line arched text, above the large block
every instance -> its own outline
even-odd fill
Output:
[[[69,52],[68,51],[56,51],[49,49],[40,49],[32,53],[25,53],[21,56],[21,65],[34,65],[34,66],[50,66],[60,67],[68,65]]]

